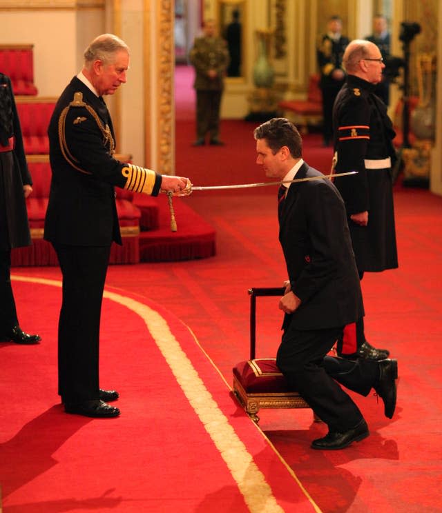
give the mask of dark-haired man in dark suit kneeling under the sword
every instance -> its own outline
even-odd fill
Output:
[[[256,162],[266,177],[280,181],[323,177],[302,160],[300,134],[287,119],[271,119],[254,135]],[[327,179],[282,185],[278,219],[289,280],[279,303],[285,318],[276,362],[329,427],[327,436],[311,446],[342,449],[369,432],[361,411],[338,383],[364,396],[374,388],[391,419],[397,362],[326,356],[343,326],[364,313],[345,205],[334,185]]]

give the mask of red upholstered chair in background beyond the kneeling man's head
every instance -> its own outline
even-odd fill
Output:
[[[310,75],[307,99],[283,100],[278,103],[278,108],[283,115],[289,112],[294,123],[300,125],[302,134],[308,133],[309,124],[318,124],[323,119],[323,98],[319,88],[319,80],[319,74]]]

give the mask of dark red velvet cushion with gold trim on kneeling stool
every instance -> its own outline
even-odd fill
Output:
[[[276,366],[274,358],[242,361],[233,368],[233,375],[247,394],[293,392],[289,390],[287,381]]]

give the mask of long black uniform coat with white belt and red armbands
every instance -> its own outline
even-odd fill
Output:
[[[374,90],[374,84],[349,75],[333,111],[335,172],[358,172],[334,183],[348,216],[368,211],[367,226],[348,220],[361,272],[398,267],[391,171],[396,159],[395,134],[385,103]]]

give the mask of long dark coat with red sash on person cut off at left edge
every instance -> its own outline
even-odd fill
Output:
[[[13,141],[11,138],[14,138]],[[0,73],[0,250],[31,244],[23,185],[32,185],[9,77]]]

